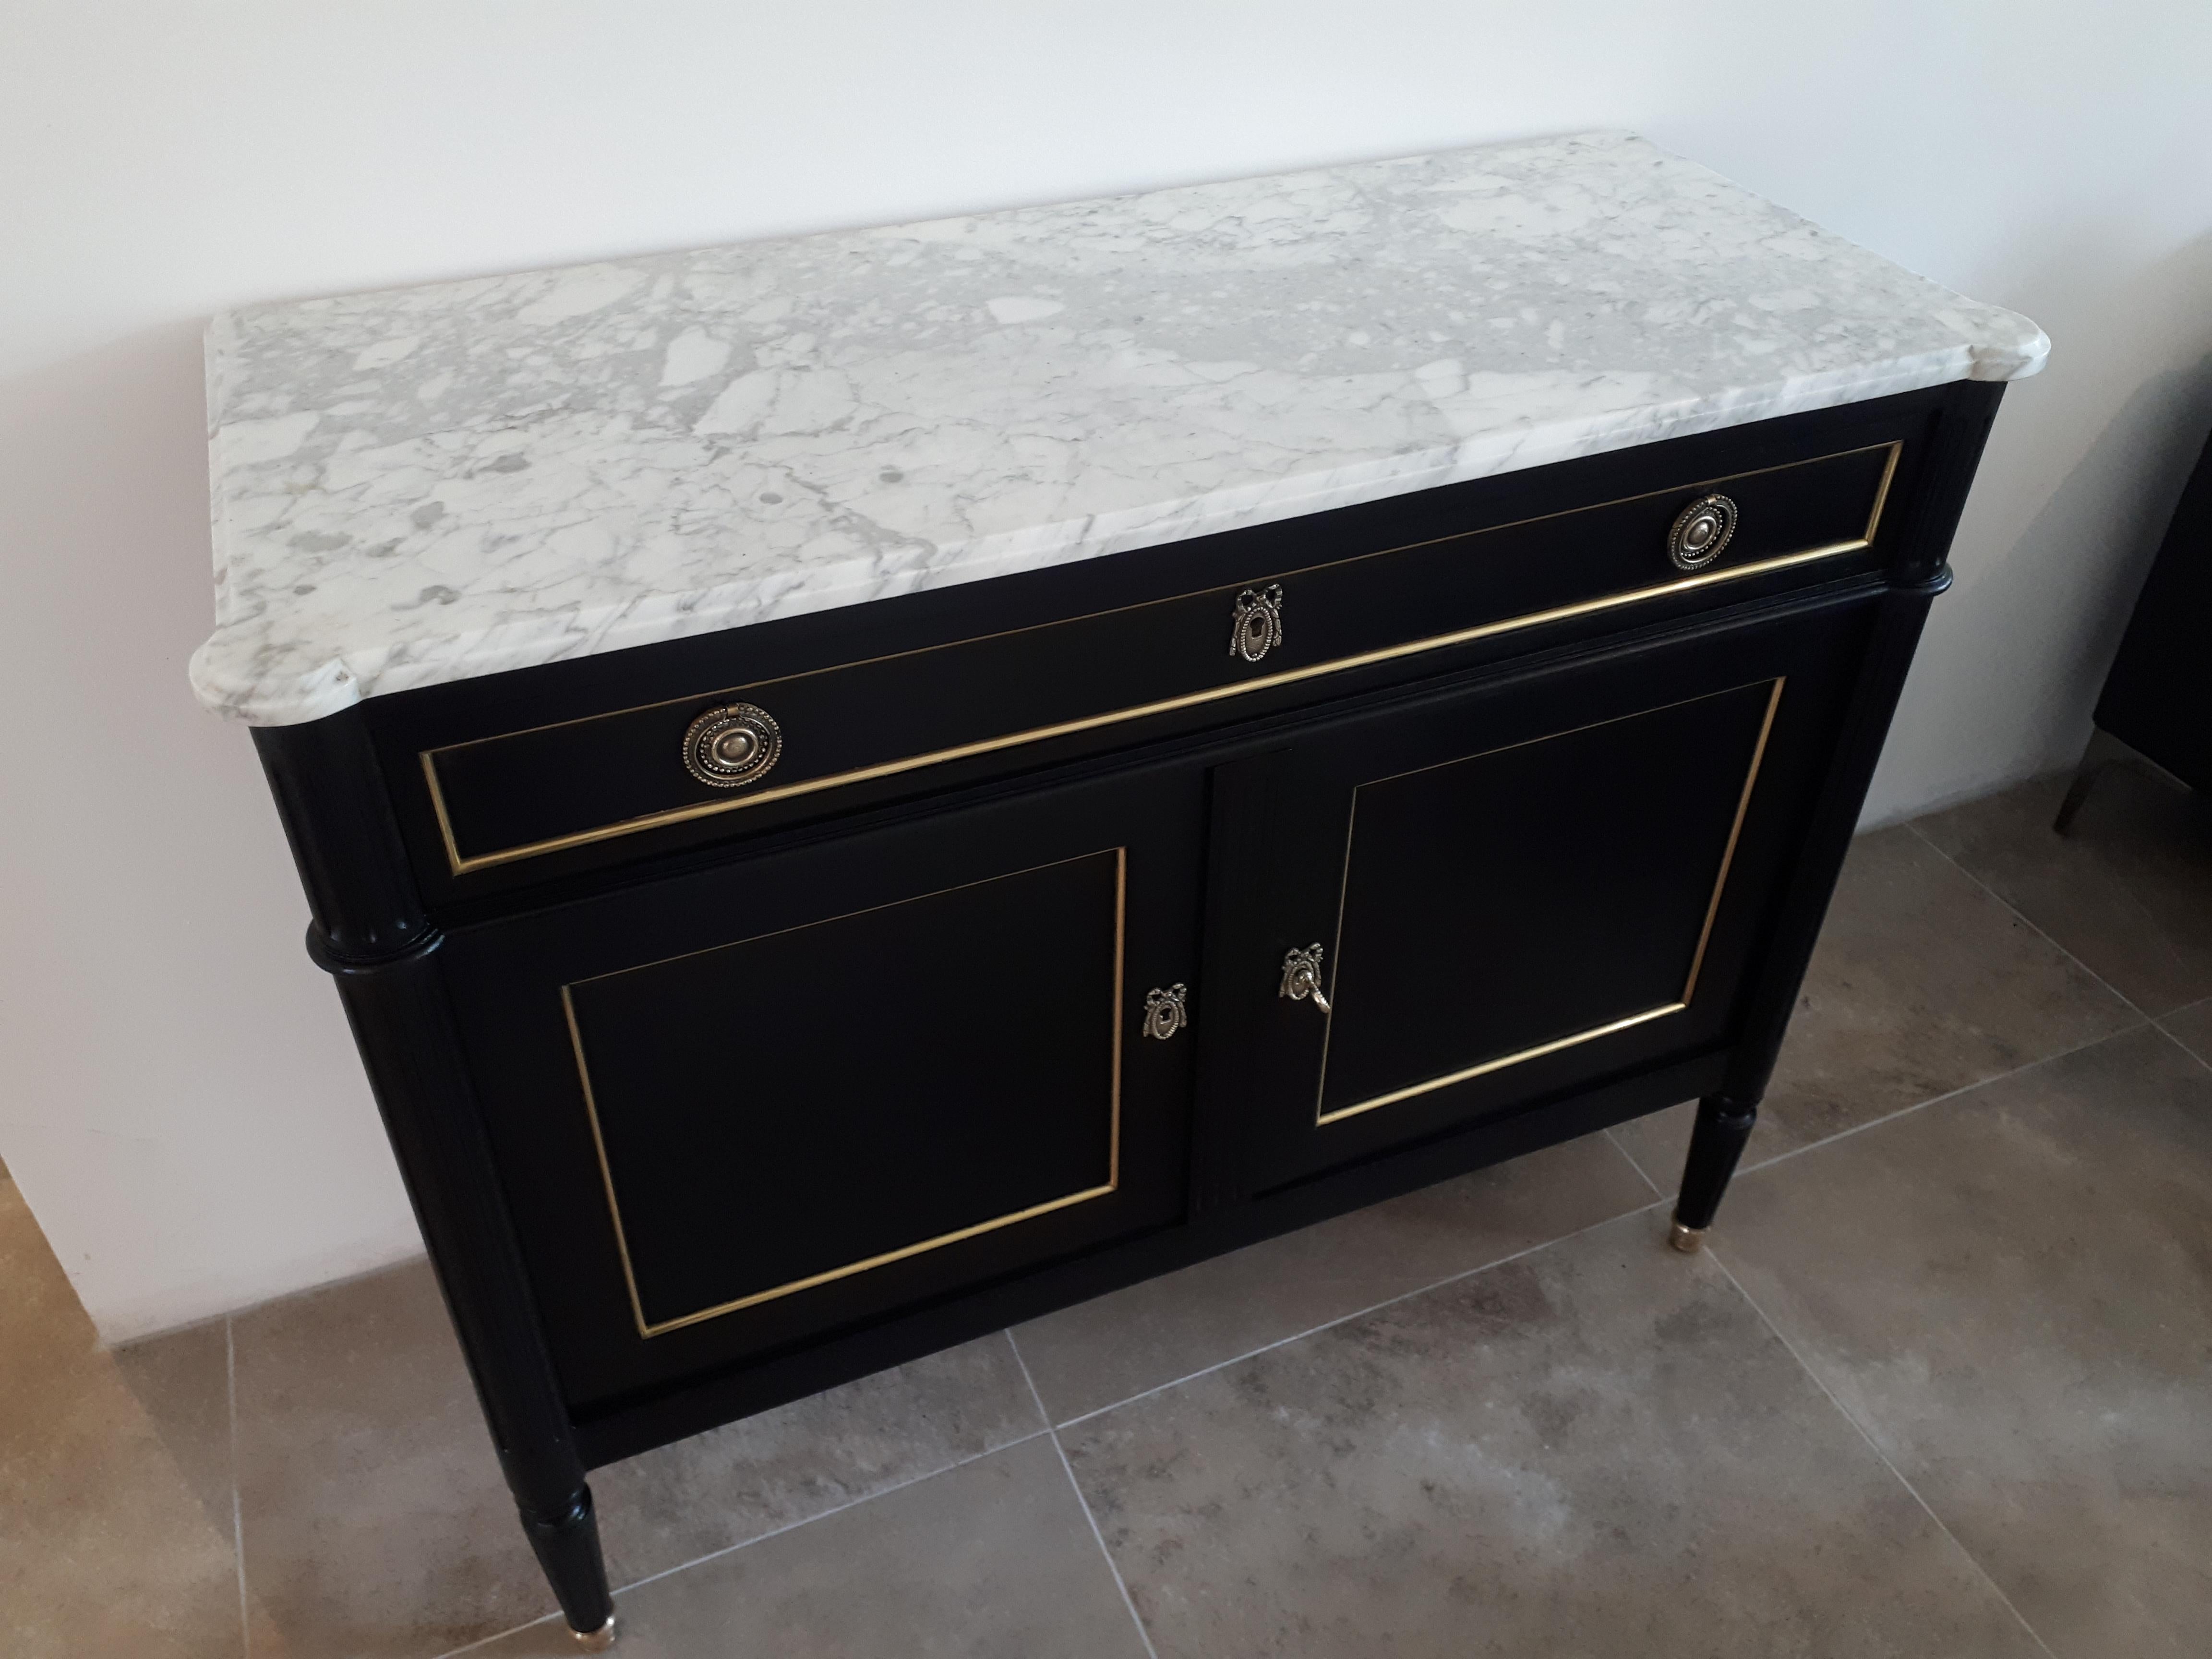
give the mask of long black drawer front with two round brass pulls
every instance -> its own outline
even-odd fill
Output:
[[[422,750],[453,876],[1865,551],[1900,445]],[[1705,498],[1730,511],[1699,520]],[[1683,526],[1690,549],[1672,544]],[[1712,555],[1719,529],[1725,544]],[[1690,568],[1683,568],[1690,566]],[[721,748],[717,750],[717,741]]]

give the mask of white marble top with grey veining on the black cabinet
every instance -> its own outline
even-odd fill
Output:
[[[254,307],[192,686],[283,726],[2046,349],[1621,133]]]

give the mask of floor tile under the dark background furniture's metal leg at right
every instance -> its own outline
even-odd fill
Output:
[[[2022,783],[1920,830],[2146,1013],[2212,995],[2212,801],[2115,765],[2062,836],[2066,783]]]

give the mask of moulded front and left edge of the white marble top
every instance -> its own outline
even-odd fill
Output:
[[[1588,137],[1624,137],[1641,144],[1641,139],[1632,139],[1630,135]],[[1509,146],[1480,148],[1502,150]],[[1652,153],[1666,155],[1655,146]],[[1710,177],[1736,190],[1721,175]],[[1141,197],[1108,201],[1128,199]],[[971,219],[991,217],[971,215]],[[1867,259],[1874,257],[1867,254]],[[604,263],[619,265],[619,261]],[[500,281],[511,279],[491,276],[467,283],[427,283],[422,288],[458,292]],[[1949,296],[1947,290],[1933,283],[1927,283],[1927,288],[1931,294]],[[387,292],[405,294],[409,290]],[[332,303],[343,303],[345,299],[356,296],[338,296]],[[250,316],[254,310],[281,312],[290,307],[223,312],[210,319],[206,330],[212,482],[210,529],[217,555],[217,588],[223,599],[237,597],[228,588],[223,571],[226,557],[237,546],[232,526],[228,524],[232,495],[228,480],[234,458],[226,456],[228,422],[223,414],[230,407],[228,376],[237,367],[239,316]],[[1860,361],[1818,374],[1785,376],[1772,383],[1699,392],[1670,400],[1597,409],[1593,414],[1537,416],[1524,425],[1480,431],[1451,445],[1360,458],[1316,471],[1290,471],[1281,478],[1168,495],[1084,518],[933,540],[925,546],[905,549],[902,557],[891,560],[880,549],[843,560],[810,557],[803,580],[776,580],[779,575],[790,577],[790,571],[748,573],[734,582],[684,586],[641,597],[628,595],[619,602],[597,606],[511,613],[493,626],[425,630],[396,641],[336,644],[321,653],[314,666],[294,668],[283,675],[265,672],[270,664],[263,659],[263,653],[237,650],[234,624],[241,619],[219,615],[217,630],[192,653],[190,679],[199,701],[221,714],[254,726],[303,723],[352,708],[367,695],[414,690],[451,679],[507,672],[661,639],[743,628],[757,622],[830,611],[900,593],[1040,571],[1055,564],[1270,524],[1336,507],[1387,500],[1418,489],[1953,380],[2024,378],[2035,374],[2048,354],[2048,336],[2042,330],[2000,307],[1960,296],[1958,312],[1938,307],[1927,314],[1951,325],[1960,338],[1940,349]],[[1993,319],[2006,319],[2020,327],[2011,338],[1997,338],[1991,330]]]

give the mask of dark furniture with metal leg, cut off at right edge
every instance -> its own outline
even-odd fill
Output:
[[[2095,719],[2059,803],[2059,834],[2108,765],[2148,765],[2190,790],[2212,790],[2212,438],[2166,526]]]

